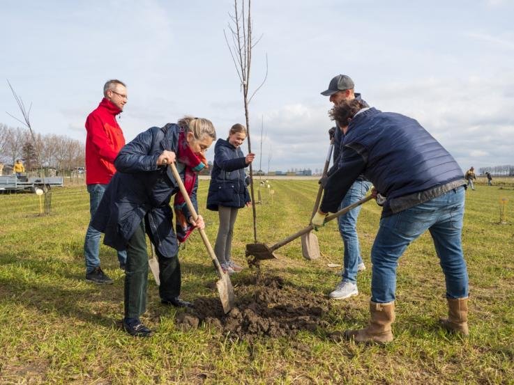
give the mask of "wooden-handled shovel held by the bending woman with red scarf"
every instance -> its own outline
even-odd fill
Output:
[[[184,200],[186,201],[186,204],[188,205],[188,209],[191,212],[192,218],[196,221],[198,215],[196,213],[195,207],[192,206],[191,199],[189,198],[188,191],[186,191],[186,187],[184,187],[184,184],[180,178],[179,171],[176,171],[176,166],[174,163],[169,164],[169,167],[172,168],[172,173],[176,180],[176,184],[179,185],[179,189],[184,197]],[[204,241],[205,247],[207,251],[209,251],[209,256],[211,257],[211,260],[213,260],[214,267],[216,267],[216,271],[220,277],[220,279],[216,281],[216,288],[218,288],[218,294],[220,294],[223,311],[226,314],[231,311],[232,308],[234,308],[234,288],[232,287],[232,282],[230,281],[229,275],[223,272],[221,269],[220,262],[218,262],[218,258],[216,258],[216,254],[214,253],[209,239],[207,239],[205,231],[201,228],[199,228],[198,231],[200,235],[202,235],[202,241]]]

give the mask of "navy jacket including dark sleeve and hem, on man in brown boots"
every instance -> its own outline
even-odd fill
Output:
[[[325,184],[320,210],[335,212],[360,173],[386,196],[383,216],[444,194],[464,182],[455,159],[414,119],[375,108],[358,113],[342,143],[342,167]]]

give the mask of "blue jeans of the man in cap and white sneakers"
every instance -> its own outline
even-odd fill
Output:
[[[356,180],[352,187],[348,190],[345,198],[342,198],[342,202],[339,206],[339,210],[360,201],[371,187],[371,183],[364,180]],[[341,215],[338,218],[339,233],[342,237],[342,242],[345,244],[345,251],[343,253],[343,272],[342,281],[356,283],[357,267],[362,263],[361,249],[358,244],[357,235],[357,217],[358,213],[361,212],[361,207],[355,207],[353,210],[347,212],[347,214]]]

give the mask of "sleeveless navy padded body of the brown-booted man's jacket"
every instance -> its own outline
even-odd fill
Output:
[[[388,199],[462,180],[462,170],[450,153],[417,120],[400,113],[375,108],[359,113],[343,146],[364,150],[364,175]]]

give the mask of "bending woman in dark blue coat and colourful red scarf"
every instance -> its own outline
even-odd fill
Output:
[[[193,219],[168,165],[176,161],[184,187],[197,209],[197,173],[207,165],[204,154],[214,139],[216,131],[210,120],[186,116],[177,124],[147,129],[116,157],[114,165],[118,172],[107,186],[93,226],[105,233],[105,244],[127,251],[123,328],[133,336],[152,334],[139,318],[146,311],[149,269],[145,233],[158,256],[161,303],[192,307],[179,297],[179,242],[185,242],[195,228],[204,228],[204,219],[200,215],[196,221]],[[169,206],[172,196],[176,232]]]

